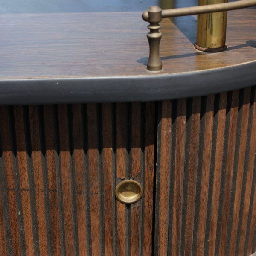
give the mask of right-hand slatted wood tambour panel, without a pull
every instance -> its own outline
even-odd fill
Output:
[[[256,92],[158,103],[154,255],[256,250]]]

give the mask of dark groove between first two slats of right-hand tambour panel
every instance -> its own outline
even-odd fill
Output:
[[[172,216],[174,201],[174,172],[175,172],[175,148],[177,131],[177,100],[172,101],[172,134],[171,134],[171,153],[170,153],[170,175],[169,175],[169,227],[168,227],[168,255],[172,255]]]

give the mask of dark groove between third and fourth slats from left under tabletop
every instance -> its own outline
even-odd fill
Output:
[[[52,227],[49,203],[49,183],[48,183],[48,169],[46,160],[46,143],[45,143],[45,130],[44,130],[44,113],[43,106],[38,106],[38,122],[39,122],[39,137],[41,145],[41,164],[42,164],[42,177],[44,186],[44,211],[45,223],[47,232],[47,253],[52,255]]]

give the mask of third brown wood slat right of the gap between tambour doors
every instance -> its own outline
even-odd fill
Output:
[[[184,255],[189,256],[192,253],[192,238],[194,227],[194,210],[195,210],[195,192],[196,192],[196,176],[197,176],[197,155],[198,140],[200,128],[200,104],[201,98],[193,98],[192,115],[191,115],[191,132],[189,145],[189,177],[187,185],[187,210],[186,210],[186,231]]]

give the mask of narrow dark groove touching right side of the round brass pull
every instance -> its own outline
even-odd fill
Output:
[[[141,161],[141,184],[142,184],[142,202],[140,204],[140,242],[139,242],[139,256],[143,256],[143,237],[144,237],[144,210],[145,210],[145,204],[144,204],[144,192],[145,192],[145,119],[146,119],[146,105],[143,102],[141,104],[141,149],[142,149],[142,161]]]

